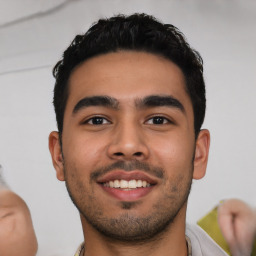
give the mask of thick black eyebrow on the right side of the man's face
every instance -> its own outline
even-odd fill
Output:
[[[169,95],[151,95],[145,97],[144,99],[137,99],[136,107],[172,107],[181,110],[183,113],[185,112],[185,108],[182,103],[178,99]]]

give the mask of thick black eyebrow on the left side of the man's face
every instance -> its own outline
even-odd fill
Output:
[[[76,114],[78,111],[82,110],[83,108],[88,108],[91,106],[102,106],[102,107],[108,107],[108,108],[118,110],[119,103],[115,98],[112,98],[109,96],[85,97],[75,105],[73,109],[73,114]]]

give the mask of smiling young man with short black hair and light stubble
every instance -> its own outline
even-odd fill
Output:
[[[226,255],[185,224],[210,135],[202,59],[181,32],[144,14],[99,20],[54,75],[49,148],[80,212],[79,255]]]

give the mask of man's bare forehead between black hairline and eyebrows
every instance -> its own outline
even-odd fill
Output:
[[[100,55],[72,72],[67,108],[95,95],[109,95],[121,103],[147,95],[171,95],[190,102],[177,65],[161,56],[136,51]]]

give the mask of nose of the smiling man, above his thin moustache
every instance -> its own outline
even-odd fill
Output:
[[[108,156],[115,160],[145,160],[149,156],[145,141],[145,135],[139,127],[120,124],[111,138]]]

